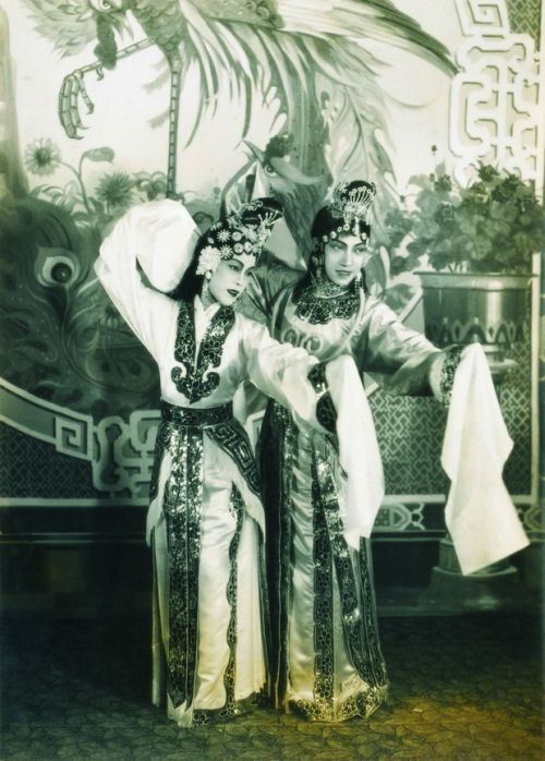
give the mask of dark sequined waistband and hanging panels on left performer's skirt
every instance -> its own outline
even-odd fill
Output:
[[[172,468],[165,486],[162,508],[169,547],[169,657],[168,691],[174,706],[191,705],[195,689],[198,644],[198,564],[201,557],[201,508],[203,503],[203,432],[232,457],[250,488],[258,490],[257,472],[245,432],[232,418],[232,404],[195,410],[164,402],[157,436],[153,493],[157,494],[160,463],[166,451]],[[227,631],[230,657],[223,675],[226,704],[214,711],[195,712],[194,723],[244,713],[252,701],[234,700],[237,669],[237,555],[244,519],[244,503],[233,486],[230,510],[237,530],[229,548],[231,571],[227,596],[231,615]]]

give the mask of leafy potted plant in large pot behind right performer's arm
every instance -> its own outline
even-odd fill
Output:
[[[532,257],[545,242],[533,183],[481,165],[467,188],[439,166],[385,218],[392,276],[421,267],[425,331],[439,347],[480,341],[502,361],[521,339]],[[425,269],[424,269],[425,268]]]

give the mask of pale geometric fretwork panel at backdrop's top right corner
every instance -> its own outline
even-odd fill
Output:
[[[456,0],[456,7],[463,40],[450,88],[453,174],[465,184],[483,161],[541,183],[543,104],[534,39],[513,33],[506,0]]]

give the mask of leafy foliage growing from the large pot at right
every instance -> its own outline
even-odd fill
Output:
[[[428,264],[467,273],[529,273],[545,244],[543,205],[533,183],[489,165],[461,188],[444,165],[412,177],[416,194],[388,212],[382,244],[392,277]]]

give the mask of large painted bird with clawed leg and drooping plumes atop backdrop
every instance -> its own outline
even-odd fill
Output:
[[[185,145],[205,113],[214,111],[221,87],[241,99],[245,111],[241,140],[254,108],[277,98],[279,118],[293,136],[293,160],[307,174],[327,180],[327,147],[344,141],[342,164],[352,177],[378,185],[391,173],[377,138],[387,133],[380,65],[371,43],[404,48],[452,73],[447,49],[390,0],[25,0],[40,34],[64,55],[98,40],[96,60],[70,73],[59,95],[59,116],[70,137],[81,137],[80,105],[92,104],[85,77],[150,46],[164,55],[170,77],[168,108],[168,195],[175,196],[181,94],[187,76],[198,76],[201,97],[192,124],[183,124]],[[117,33],[131,14],[145,37],[118,49]],[[195,73],[196,72],[196,73]],[[222,76],[227,72],[228,76]],[[157,84],[161,81],[159,75]],[[316,186],[316,193],[322,192]]]

